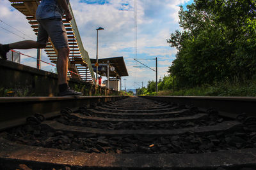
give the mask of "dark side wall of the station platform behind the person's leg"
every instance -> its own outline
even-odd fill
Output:
[[[58,76],[55,73],[25,66],[17,62],[0,60],[0,96],[57,96]],[[108,96],[115,90],[86,81],[68,78],[68,85],[84,96]]]

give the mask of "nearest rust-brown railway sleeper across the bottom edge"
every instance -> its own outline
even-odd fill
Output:
[[[0,164],[16,169],[20,162],[41,169],[216,169],[255,167],[256,149],[194,154],[84,153],[15,144],[0,138]],[[10,148],[12,154],[10,154]],[[60,162],[64,162],[61,164]],[[51,167],[51,168],[50,168]],[[57,169],[57,168],[56,168]],[[240,169],[240,168],[239,168]],[[247,168],[244,168],[247,169]],[[251,168],[250,168],[251,169]]]

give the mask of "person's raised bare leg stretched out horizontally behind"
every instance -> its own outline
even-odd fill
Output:
[[[32,40],[19,41],[9,44],[10,49],[45,48],[45,45]]]

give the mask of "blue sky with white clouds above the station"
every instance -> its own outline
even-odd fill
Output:
[[[166,39],[179,28],[179,6],[193,0],[137,0],[138,50],[134,50],[134,0],[70,0],[77,27],[85,50],[90,58],[96,58],[96,30],[99,31],[99,59],[123,56],[129,73],[125,77],[126,88],[135,89],[156,80],[156,73],[141,66],[137,59],[158,60],[158,78],[167,74],[168,66],[175,59],[175,48]],[[36,40],[28,20],[15,10],[8,0],[0,0],[0,43],[11,43],[24,39]],[[36,50],[19,50],[36,57]],[[42,60],[49,62],[43,50]],[[140,60],[155,69],[155,60]],[[36,67],[35,59],[21,56],[22,64]],[[54,67],[42,63],[42,69],[54,71]],[[124,85],[123,85],[124,89]]]

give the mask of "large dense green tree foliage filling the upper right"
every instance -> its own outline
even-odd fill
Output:
[[[184,10],[183,31],[171,34],[177,48],[169,73],[179,87],[223,80],[251,80],[256,75],[256,3],[253,0],[195,0]]]

